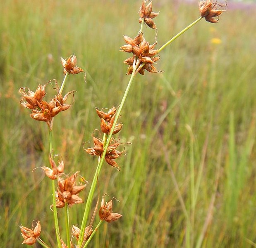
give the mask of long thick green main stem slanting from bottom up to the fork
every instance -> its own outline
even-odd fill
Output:
[[[86,206],[85,206],[85,210],[84,210],[84,217],[83,217],[83,220],[82,220],[82,224],[81,224],[81,234],[84,233],[84,230],[85,230],[85,227],[86,227],[86,222],[88,220],[88,216],[89,216],[89,210],[91,209],[91,203],[92,203],[92,200],[93,200],[93,194],[94,194],[94,191],[95,191],[95,188],[96,188],[96,183],[97,183],[97,180],[98,180],[98,175],[100,174],[100,170],[102,168],[102,165],[103,165],[103,161],[105,159],[105,155],[107,153],[107,149],[108,149],[108,146],[110,144],[110,141],[111,141],[111,137],[112,137],[112,134],[113,134],[113,131],[114,131],[114,128],[115,128],[115,125],[117,124],[117,120],[120,116],[120,113],[122,111],[122,108],[124,106],[124,102],[127,98],[127,95],[128,95],[128,92],[130,90],[130,87],[132,85],[132,82],[134,80],[134,77],[135,77],[136,73],[135,73],[135,70],[132,72],[132,75],[131,75],[131,78],[129,80],[129,83],[126,87],[126,90],[124,92],[124,95],[123,95],[123,98],[122,98],[122,101],[121,101],[121,104],[117,110],[117,114],[115,116],[115,120],[114,120],[114,123],[113,123],[113,126],[110,130],[110,134],[108,135],[107,137],[107,141],[105,142],[105,146],[104,146],[104,150],[103,150],[103,154],[101,154],[101,158],[100,158],[100,162],[98,163],[98,166],[97,166],[97,169],[96,169],[96,172],[95,172],[95,175],[93,177],[93,182],[91,184],[91,189],[90,189],[90,192],[89,192],[89,195],[88,195],[88,198],[87,198],[87,201],[86,201]],[[79,241],[78,241],[78,244],[79,246],[81,246],[81,244],[83,243],[83,238],[84,236],[83,235],[80,235],[79,236]]]

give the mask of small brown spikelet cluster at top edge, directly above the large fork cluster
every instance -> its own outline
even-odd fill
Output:
[[[153,18],[157,17],[159,14],[156,12],[152,12],[152,1],[150,0],[142,0],[142,5],[140,7],[139,10],[139,23],[142,22],[142,20],[144,19],[145,23],[153,29],[157,29],[156,28],[156,24],[154,23],[154,21],[152,20]]]

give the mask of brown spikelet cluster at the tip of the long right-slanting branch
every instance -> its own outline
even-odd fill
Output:
[[[223,10],[218,9],[218,7],[224,8]],[[201,17],[205,18],[206,21],[211,23],[216,23],[219,20],[219,15],[227,10],[227,2],[221,5],[215,0],[199,0],[199,12]],[[215,17],[218,17],[217,19]]]

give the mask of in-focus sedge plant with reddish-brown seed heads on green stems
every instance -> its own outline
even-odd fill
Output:
[[[223,7],[224,9],[219,9]],[[62,111],[67,111],[72,104],[67,104],[66,101],[69,96],[73,97],[75,91],[69,91],[64,96],[62,92],[65,89],[65,83],[67,78],[71,75],[76,75],[78,73],[84,73],[82,68],[77,66],[77,57],[73,55],[68,59],[61,58],[64,79],[62,84],[58,85],[56,80],[49,81],[45,85],[38,85],[37,89],[33,92],[27,87],[22,87],[20,93],[23,98],[21,104],[31,110],[30,116],[34,120],[43,121],[48,125],[48,140],[49,140],[49,166],[43,166],[41,169],[45,172],[45,175],[51,180],[52,186],[52,199],[51,209],[53,210],[53,218],[55,223],[55,233],[58,248],[85,248],[90,242],[93,242],[94,234],[100,230],[100,225],[105,222],[113,222],[119,220],[122,215],[120,213],[113,213],[113,199],[110,198],[109,201],[105,201],[106,194],[103,192],[100,207],[98,209],[99,196],[96,206],[92,206],[94,193],[96,191],[97,184],[100,184],[100,172],[105,164],[111,165],[113,168],[120,170],[120,166],[117,164],[116,159],[124,155],[124,150],[120,151],[117,149],[121,143],[120,139],[115,137],[117,133],[122,130],[123,124],[118,123],[122,108],[127,99],[129,90],[132,86],[135,76],[139,74],[144,75],[146,71],[149,73],[162,73],[163,71],[158,71],[155,64],[160,59],[160,52],[162,52],[165,47],[170,45],[175,39],[182,35],[189,28],[198,23],[201,19],[205,18],[206,21],[211,23],[216,23],[218,21],[219,15],[226,11],[227,5],[221,5],[217,1],[213,0],[199,0],[199,12],[200,16],[189,26],[180,31],[173,38],[168,40],[162,47],[156,49],[157,43],[149,44],[143,33],[143,28],[147,25],[149,28],[157,30],[155,21],[153,20],[159,15],[159,12],[153,12],[153,5],[151,0],[143,0],[142,5],[139,9],[139,23],[140,28],[136,37],[130,38],[124,35],[125,45],[120,47],[120,51],[127,52],[131,54],[131,57],[124,60],[124,63],[128,65],[127,75],[130,75],[129,82],[127,84],[126,90],[123,94],[122,100],[118,108],[112,106],[108,111],[105,109],[96,108],[96,114],[100,118],[100,131],[103,133],[102,139],[96,137],[96,130],[92,133],[93,147],[86,148],[86,142],[84,142],[83,148],[86,153],[92,156],[98,156],[98,163],[96,166],[96,171],[94,177],[89,180],[91,187],[87,199],[82,199],[79,197],[79,193],[84,190],[84,188],[89,184],[83,175],[80,175],[78,171],[76,172],[66,172],[65,163],[62,161],[62,156],[54,155],[55,148],[53,147],[53,120],[55,116],[60,114]],[[55,96],[48,102],[45,100],[46,92],[50,85],[54,86],[56,91]],[[59,160],[56,163],[56,157]],[[191,168],[193,171],[194,168]],[[65,172],[64,172],[65,171]],[[83,172],[82,172],[83,173]],[[80,178],[79,183],[77,183],[77,178]],[[191,180],[191,209],[193,211],[194,200],[195,200],[195,185],[194,181]],[[98,193],[99,194],[99,193]],[[69,222],[69,215],[72,215],[72,206],[75,204],[85,203],[84,215],[80,223],[71,224]],[[57,208],[64,208],[64,213],[59,211]],[[71,210],[69,210],[71,209]],[[96,212],[98,212],[100,221],[94,223]],[[58,218],[63,215],[65,218],[65,234],[60,233]],[[91,220],[89,220],[89,217]],[[40,243],[41,246],[45,248],[50,248],[50,245],[45,243],[40,238],[41,234],[41,223],[36,220],[35,227],[32,229],[20,225],[22,232],[22,237],[24,241],[22,244],[33,245],[36,242]],[[187,246],[189,247],[189,228],[193,226],[193,220],[188,220],[187,228]],[[70,235],[72,231],[72,236]],[[65,236],[65,239],[62,238]]]

